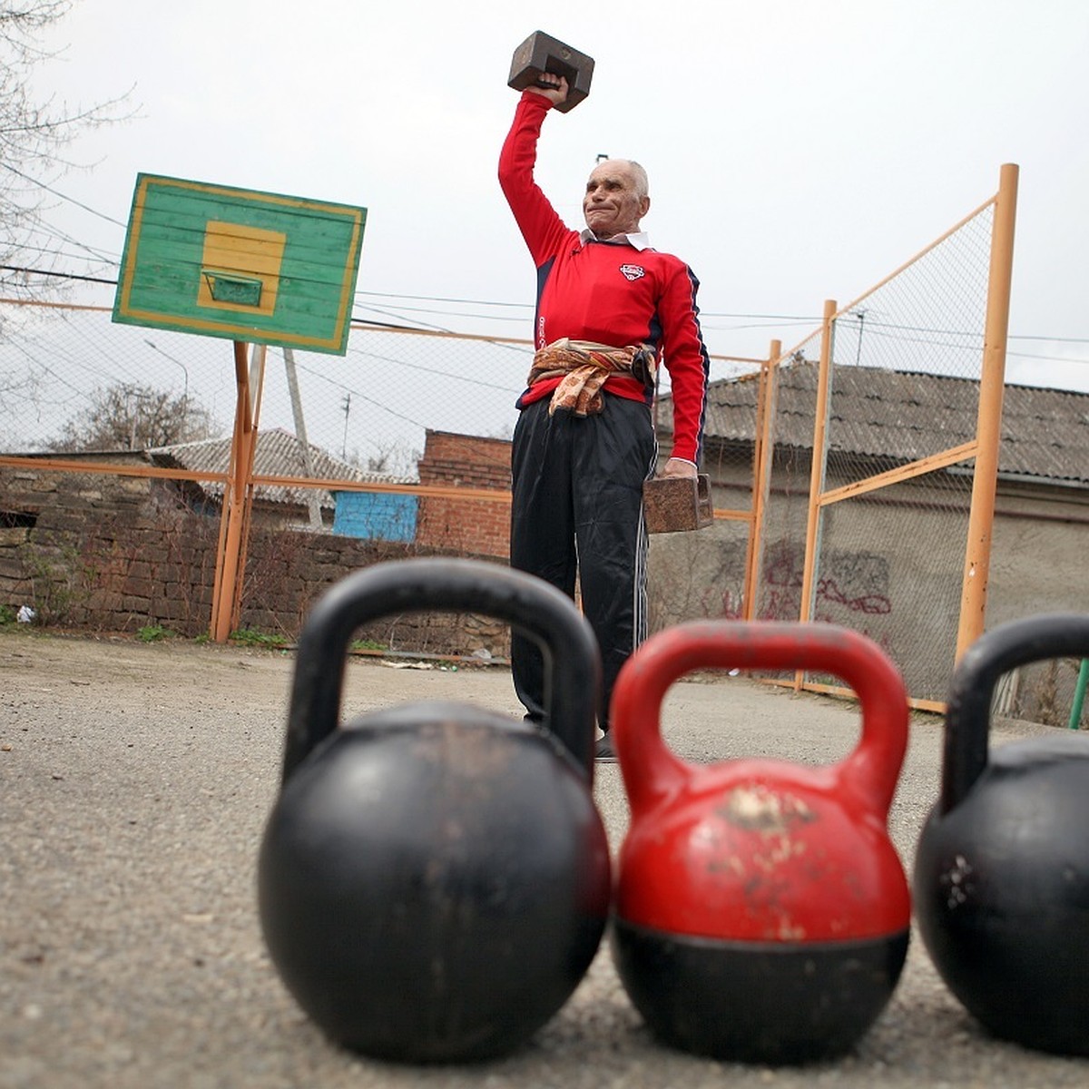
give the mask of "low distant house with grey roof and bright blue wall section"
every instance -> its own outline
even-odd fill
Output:
[[[156,465],[191,472],[225,473],[231,438],[206,439],[147,451]],[[260,431],[254,454],[254,474],[343,480],[352,484],[411,484],[407,478],[371,473],[342,462],[320,446],[303,444],[289,431]],[[193,509],[218,511],[223,486],[218,481],[181,482],[179,488]],[[266,526],[327,530],[350,537],[411,541],[416,531],[416,497],[354,490],[257,485],[254,516]]]

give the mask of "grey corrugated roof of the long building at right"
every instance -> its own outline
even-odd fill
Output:
[[[708,388],[706,441],[751,442],[758,383],[724,379]],[[817,367],[780,368],[775,441],[812,445]],[[830,448],[911,462],[969,442],[976,432],[979,383],[877,367],[834,368]],[[669,425],[669,399],[663,397]],[[1006,386],[999,472],[1089,484],[1089,394]]]

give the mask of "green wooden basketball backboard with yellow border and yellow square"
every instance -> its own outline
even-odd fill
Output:
[[[113,320],[347,351],[367,209],[138,174]]]

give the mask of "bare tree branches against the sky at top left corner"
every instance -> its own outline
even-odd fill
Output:
[[[29,281],[20,270],[30,264],[28,244],[42,225],[49,182],[74,166],[62,158],[64,148],[84,130],[121,120],[127,97],[85,107],[34,94],[32,73],[54,58],[42,39],[71,7],[72,0],[0,0],[0,287],[9,295],[53,290],[57,281]],[[35,253],[33,265],[52,271],[48,253]]]

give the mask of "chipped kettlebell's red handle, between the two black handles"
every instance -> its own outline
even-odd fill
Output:
[[[885,817],[907,749],[907,690],[889,657],[834,624],[693,621],[651,636],[624,663],[610,719],[633,812],[690,776],[661,736],[666,689],[700,669],[819,670],[845,681],[861,703],[861,737],[837,768],[868,807]],[[729,701],[724,700],[727,703]]]

